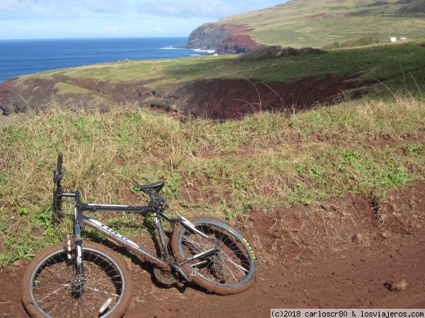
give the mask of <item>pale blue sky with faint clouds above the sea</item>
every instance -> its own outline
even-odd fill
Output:
[[[188,37],[204,23],[287,0],[0,0],[0,40]]]

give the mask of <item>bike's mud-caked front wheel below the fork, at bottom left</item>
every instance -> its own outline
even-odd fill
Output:
[[[132,280],[120,256],[101,244],[83,243],[84,276],[75,280],[74,249],[43,250],[23,276],[22,302],[33,318],[119,318],[127,311]]]

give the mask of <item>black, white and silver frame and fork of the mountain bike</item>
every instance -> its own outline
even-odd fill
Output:
[[[150,195],[151,193],[149,193]],[[151,200],[154,198],[153,195],[151,196]],[[181,266],[185,263],[188,263],[189,261],[192,261],[193,259],[199,259],[203,256],[206,256],[208,254],[212,254],[215,251],[218,251],[220,249],[220,244],[215,239],[212,239],[205,235],[203,232],[198,231],[196,227],[186,218],[179,217],[179,218],[172,218],[166,215],[164,212],[157,212],[152,205],[149,206],[137,206],[137,205],[101,205],[101,204],[87,204],[87,203],[81,203],[80,199],[80,193],[79,191],[76,192],[62,192],[62,188],[59,187],[55,191],[54,194],[54,211],[58,212],[61,211],[60,204],[62,203],[62,198],[74,198],[74,239],[75,239],[75,249],[76,249],[76,256],[77,256],[77,273],[76,273],[76,281],[77,283],[84,281],[84,266],[83,262],[84,259],[82,257],[82,238],[81,238],[81,225],[86,225],[89,227],[92,227],[96,229],[98,232],[101,232],[106,237],[110,237],[111,239],[114,239],[115,241],[118,241],[121,245],[128,247],[132,251],[135,251],[137,254],[140,254],[144,256],[145,258],[149,259],[154,263],[154,265],[158,266],[164,271],[171,271],[171,268],[176,269],[176,271],[179,271],[181,273],[181,276],[185,280],[190,281],[191,276],[194,275],[194,273],[186,273]],[[59,205],[55,205],[59,203]],[[164,259],[159,259],[159,257],[155,256],[154,254],[150,253],[146,249],[142,248],[142,246],[139,246],[135,242],[132,242],[130,239],[124,237],[123,235],[119,234],[118,232],[115,232],[115,230],[111,229],[110,227],[103,225],[101,222],[94,220],[91,217],[87,217],[83,214],[83,211],[123,211],[123,212],[138,212],[144,215],[147,215],[149,213],[153,213],[155,217],[155,223],[157,227],[157,231],[159,233],[159,239],[160,239],[160,249],[162,252],[162,256]],[[164,218],[166,221],[170,222],[171,225],[175,224],[181,224],[184,227],[191,229],[193,232],[196,232],[197,234],[205,237],[205,239],[210,240],[215,244],[215,248],[209,249],[208,251],[203,251],[199,254],[196,254],[192,256],[190,259],[185,259],[179,263],[174,262],[170,259],[169,253],[166,248],[166,241],[164,237],[164,231],[162,228],[162,220],[161,218]],[[68,239],[68,249],[71,249],[71,242],[70,239]],[[201,249],[196,246],[194,242],[191,242],[191,244],[198,249],[198,251],[201,251]],[[78,284],[81,285],[81,284]]]

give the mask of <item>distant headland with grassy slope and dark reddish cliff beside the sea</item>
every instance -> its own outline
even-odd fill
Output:
[[[289,0],[273,8],[205,23],[186,47],[219,55],[249,52],[263,45],[322,47],[361,36],[423,38],[425,0]]]

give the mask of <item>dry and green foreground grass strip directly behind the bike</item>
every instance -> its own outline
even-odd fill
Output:
[[[425,103],[408,94],[224,123],[182,122],[131,105],[103,114],[53,109],[0,125],[0,266],[32,258],[71,229],[67,219],[60,231],[50,214],[58,152],[62,185],[85,202],[144,204],[132,187],[162,179],[172,209],[227,220],[347,193],[385,200],[425,178]],[[135,215],[96,217],[124,234],[145,233]]]

